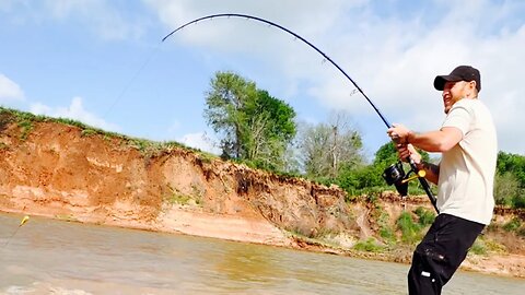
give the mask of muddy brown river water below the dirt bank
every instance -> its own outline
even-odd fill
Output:
[[[406,294],[409,266],[0,214],[0,294]],[[524,294],[458,272],[443,294]]]

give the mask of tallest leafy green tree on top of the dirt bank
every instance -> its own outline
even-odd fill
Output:
[[[295,135],[295,111],[232,72],[218,72],[207,92],[205,118],[221,138],[224,157],[279,169]]]

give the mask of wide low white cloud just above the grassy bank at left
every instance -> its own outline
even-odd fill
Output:
[[[88,111],[82,105],[82,98],[77,96],[71,99],[68,107],[49,107],[47,105],[36,103],[32,104],[30,111],[36,115],[46,115],[50,117],[69,118],[79,120],[83,123],[104,129],[106,131],[118,132],[120,128],[114,123],[109,123],[101,117]]]

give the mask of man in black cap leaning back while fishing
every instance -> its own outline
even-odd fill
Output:
[[[442,91],[446,114],[441,129],[419,133],[393,125],[387,131],[399,157],[412,158],[439,190],[440,214],[413,251],[409,294],[441,294],[490,223],[494,208],[498,144],[492,117],[478,99],[480,73],[459,66],[447,75],[438,75],[434,87]],[[440,164],[422,162],[416,148],[442,153]]]

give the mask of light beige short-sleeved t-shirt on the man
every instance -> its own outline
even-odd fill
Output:
[[[480,101],[464,98],[454,104],[442,127],[459,129],[463,139],[442,155],[438,209],[441,213],[489,224],[494,209],[498,157],[492,116]]]

